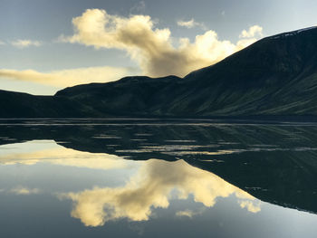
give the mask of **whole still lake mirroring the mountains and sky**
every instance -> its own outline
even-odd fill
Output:
[[[317,123],[1,119],[1,237],[316,237]]]

